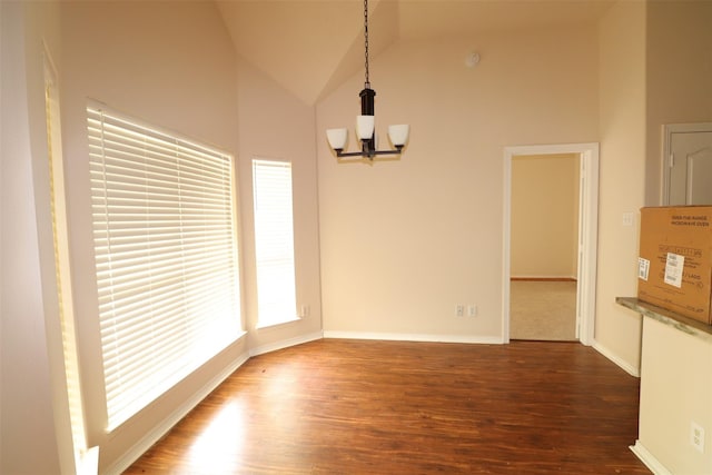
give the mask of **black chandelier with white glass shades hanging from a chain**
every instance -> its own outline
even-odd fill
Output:
[[[364,0],[364,49],[366,57],[365,82],[364,89],[358,93],[360,97],[360,116],[356,116],[356,136],[360,140],[362,149],[360,151],[344,151],[348,139],[348,129],[328,129],[326,137],[329,146],[336,152],[336,157],[362,157],[373,161],[377,155],[400,155],[403,147],[408,141],[411,126],[388,126],[388,138],[395,150],[376,150],[374,119],[376,91],[370,89],[370,80],[368,78],[368,0]]]

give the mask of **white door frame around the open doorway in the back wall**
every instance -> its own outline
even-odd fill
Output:
[[[594,344],[596,256],[599,237],[599,144],[563,144],[504,148],[504,256],[502,269],[502,339],[510,343],[510,279],[512,246],[512,159],[523,155],[578,154],[578,269],[576,335],[586,346]]]

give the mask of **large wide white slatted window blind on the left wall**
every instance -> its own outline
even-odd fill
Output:
[[[241,333],[233,159],[87,108],[108,429]]]

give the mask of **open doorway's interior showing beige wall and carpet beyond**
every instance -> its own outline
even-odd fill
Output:
[[[574,342],[581,154],[512,157],[510,338]]]

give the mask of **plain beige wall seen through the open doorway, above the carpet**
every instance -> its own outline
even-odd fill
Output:
[[[576,154],[512,158],[512,277],[576,278]]]

